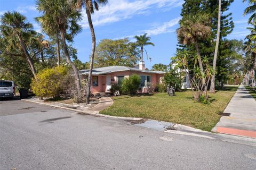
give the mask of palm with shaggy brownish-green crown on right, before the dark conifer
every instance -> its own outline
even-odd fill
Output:
[[[180,28],[176,30],[179,43],[184,45],[194,44],[199,68],[201,70],[201,74],[203,75],[203,84],[205,84],[205,78],[201,54],[198,47],[198,39],[205,39],[211,35],[209,21],[209,17],[206,14],[187,15],[179,21]]]

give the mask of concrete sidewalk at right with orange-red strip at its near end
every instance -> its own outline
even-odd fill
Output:
[[[243,85],[239,86],[230,100],[214,132],[256,138],[256,101]]]

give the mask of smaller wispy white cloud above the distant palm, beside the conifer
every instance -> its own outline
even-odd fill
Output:
[[[181,17],[172,19],[169,22],[164,22],[162,25],[159,25],[155,28],[149,29],[149,30],[145,30],[143,32],[148,33],[148,35],[151,36],[155,36],[161,33],[166,33],[166,32],[174,32],[175,30],[171,30],[170,28],[172,28],[174,25],[179,23],[179,20],[181,19]]]

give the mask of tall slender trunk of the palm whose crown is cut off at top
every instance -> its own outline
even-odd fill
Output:
[[[87,19],[88,19],[89,27],[90,27],[90,30],[91,30],[91,36],[92,36],[90,70],[89,70],[87,87],[86,87],[87,88],[86,89],[86,104],[89,104],[90,103],[90,94],[91,94],[92,69],[93,69],[93,60],[94,60],[96,38],[95,38],[94,28],[93,28],[93,24],[92,24],[91,12],[86,9],[86,14],[87,14]]]

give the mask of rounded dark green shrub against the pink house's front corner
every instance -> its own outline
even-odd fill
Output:
[[[121,90],[126,94],[136,94],[140,88],[140,76],[138,74],[132,74],[129,78],[125,78],[122,82]]]

